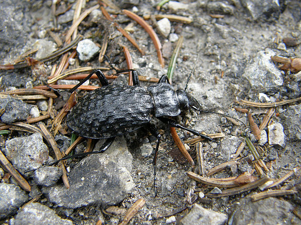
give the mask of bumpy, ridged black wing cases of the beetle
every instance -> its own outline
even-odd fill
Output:
[[[87,93],[68,114],[67,126],[88,138],[123,135],[148,123],[153,108],[144,88],[109,85]]]

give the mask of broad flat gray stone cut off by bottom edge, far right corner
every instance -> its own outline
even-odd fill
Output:
[[[256,202],[250,201],[238,207],[232,225],[290,224],[293,209],[294,207],[287,201],[274,197]]]

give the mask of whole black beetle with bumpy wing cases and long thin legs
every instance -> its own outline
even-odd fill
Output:
[[[133,132],[145,126],[152,135],[157,137],[157,144],[153,158],[154,192],[156,187],[156,160],[161,135],[153,124],[151,116],[175,128],[181,128],[194,135],[210,139],[200,132],[181,126],[170,117],[178,116],[181,111],[189,108],[200,110],[200,104],[185,90],[174,90],[167,75],[163,75],[158,84],[149,86],[147,90],[139,84],[135,70],[122,70],[119,73],[132,71],[133,86],[109,85],[100,70],[94,70],[83,81],[77,84],[70,92],[76,90],[94,73],[98,76],[102,87],[90,91],[71,109],[67,115],[67,126],[75,134],[87,138],[107,139],[99,151],[87,152],[96,154],[107,150],[118,135]],[[189,78],[188,78],[189,80]],[[187,83],[188,83],[187,80]],[[80,155],[86,155],[80,154]],[[63,159],[69,158],[64,157]],[[61,159],[62,160],[62,159]]]

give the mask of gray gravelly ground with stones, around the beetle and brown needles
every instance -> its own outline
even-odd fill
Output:
[[[55,21],[51,14],[52,4],[55,4],[52,2],[56,1],[0,0],[1,64],[12,63],[17,56],[31,49],[39,48],[32,56],[37,59],[61,48],[50,36],[50,30],[65,40],[72,25],[76,1],[57,2],[56,13],[60,13],[55,16]],[[227,114],[247,124],[235,125],[219,115],[199,113],[192,109],[177,117],[180,124],[191,129],[206,134],[224,134],[222,138],[200,142],[205,174],[213,167],[229,162],[240,143],[245,143],[244,137],[247,136],[262,150],[260,158],[267,166],[267,170],[262,170],[268,178],[279,179],[293,171],[288,180],[273,189],[294,190],[294,194],[252,202],[251,195],[261,192],[256,188],[237,195],[209,197],[228,189],[213,188],[191,180],[186,172],[197,172],[198,167],[191,167],[179,153],[168,126],[156,119],[152,119],[152,123],[163,137],[156,166],[157,197],[154,197],[152,166],[156,138],[145,128],[117,137],[102,154],[90,155],[82,160],[68,160],[70,188],[67,189],[60,179],[62,172],[57,167],[47,166],[36,170],[51,162],[51,157],[54,158],[49,143],[39,133],[12,130],[9,134],[0,135],[1,151],[19,171],[35,171],[24,175],[31,185],[29,192],[20,188],[14,178],[0,169],[0,223],[95,225],[101,221],[103,224],[119,224],[126,210],[143,198],[144,206],[129,224],[301,224],[301,174],[298,168],[293,170],[301,165],[300,100],[275,107],[259,140],[251,132],[247,114],[234,110],[234,107],[249,109],[259,126],[269,108],[239,105],[237,101],[266,104],[300,97],[300,61],[288,60],[291,71],[284,71],[271,60],[274,56],[301,58],[300,1],[183,0],[180,3],[170,1],[161,11],[156,10],[158,2],[154,1],[119,0],[115,3],[121,9],[128,9],[140,16],[173,14],[185,16],[192,22],[185,24],[166,19],[158,22],[157,25],[166,35],[158,34],[166,61],[162,68],[151,38],[142,27],[126,15],[116,14],[115,21],[122,28],[128,26],[127,30],[131,30],[131,35],[145,51],[143,56],[103,17],[99,8],[80,24],[78,34],[91,42],[85,41],[84,48],[78,49],[78,55],[75,60],[70,60],[68,69],[109,66],[108,63],[100,63],[98,56],[93,56],[91,52],[91,56],[85,54],[87,59],[81,58],[84,57],[81,53],[88,48],[87,45],[92,46],[91,51],[98,51],[96,45],[101,46],[107,34],[106,56],[111,64],[119,69],[127,68],[122,51],[125,45],[130,50],[134,68],[139,75],[160,78],[167,74],[172,51],[178,38],[183,36],[183,45],[172,78],[174,89],[184,89],[187,77],[192,72],[188,92],[200,102],[202,110]],[[96,4],[98,1],[86,2],[82,13]],[[109,7],[106,9],[110,14],[115,12]],[[295,38],[297,45],[289,46],[284,38]],[[51,69],[60,61],[61,56],[39,66],[0,70],[0,89],[5,91],[46,85]],[[60,82],[67,84],[70,81]],[[109,82],[127,84],[127,75],[119,75]],[[155,83],[141,81],[140,84],[147,88]],[[99,82],[93,79],[90,85],[99,85]],[[52,119],[70,95],[67,91],[59,93],[60,97],[54,100],[50,110]],[[85,93],[83,90],[78,91],[78,99]],[[47,111],[48,101],[26,103],[1,95],[1,120],[5,123],[2,126],[17,121],[26,122],[28,117],[43,115]],[[39,124],[50,129],[51,119],[32,125],[39,127]],[[63,132],[67,130],[65,120],[62,128],[54,138],[59,149],[64,151],[69,146],[71,136],[70,132]],[[177,129],[177,133],[183,141],[196,137],[180,129]],[[84,151],[86,142],[78,145],[75,152]],[[103,140],[98,141],[94,150],[99,150],[102,144]],[[189,147],[189,153],[197,162],[198,148],[193,145]],[[258,168],[253,170],[254,156],[247,146],[236,160],[237,164],[228,165],[208,177],[228,178],[253,172],[253,177],[260,178]],[[34,203],[24,206],[38,195],[40,197]],[[171,213],[173,210],[179,212]],[[163,217],[162,213],[167,214]]]

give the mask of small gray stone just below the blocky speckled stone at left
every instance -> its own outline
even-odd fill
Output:
[[[45,166],[33,173],[33,181],[38,185],[51,186],[63,175],[61,167]]]

